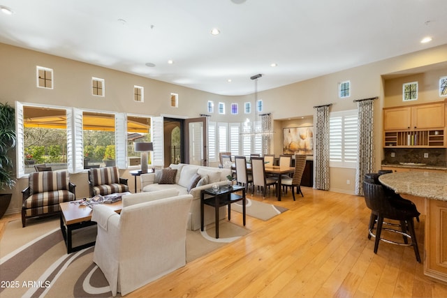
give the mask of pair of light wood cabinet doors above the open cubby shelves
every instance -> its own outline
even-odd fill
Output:
[[[406,105],[383,109],[385,131],[443,129],[446,124],[444,103]]]

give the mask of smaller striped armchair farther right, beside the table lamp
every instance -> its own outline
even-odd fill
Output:
[[[129,191],[127,179],[119,177],[118,167],[98,167],[89,170],[90,195],[110,195]]]

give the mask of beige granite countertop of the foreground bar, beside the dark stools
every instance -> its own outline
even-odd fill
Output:
[[[447,201],[445,172],[395,172],[381,175],[379,181],[396,193]]]

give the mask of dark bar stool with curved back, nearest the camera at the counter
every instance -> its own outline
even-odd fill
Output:
[[[416,260],[420,262],[418,241],[416,241],[416,232],[414,230],[413,223],[413,218],[419,216],[420,213],[417,211],[417,209],[414,209],[408,204],[402,204],[397,200],[389,200],[389,198],[386,197],[385,191],[383,191],[383,186],[371,183],[370,181],[366,180],[367,179],[363,181],[363,192],[365,194],[366,205],[372,211],[371,217],[369,219],[368,238],[376,238],[374,242],[374,253],[377,253],[377,250],[379,248],[379,241],[402,246],[413,246]],[[376,218],[376,221],[373,221],[372,218]],[[400,225],[398,226],[400,226],[401,230],[393,228],[383,228],[383,223],[386,218],[400,221]],[[377,228],[374,229],[375,222],[377,223]],[[376,230],[375,234],[373,230]],[[402,234],[402,237],[404,237],[404,243],[382,238],[382,230]],[[410,244],[408,243],[407,239],[411,239]]]

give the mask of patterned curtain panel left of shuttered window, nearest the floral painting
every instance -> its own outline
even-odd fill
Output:
[[[314,188],[329,190],[329,105],[316,108]]]

